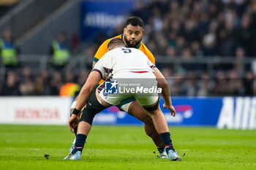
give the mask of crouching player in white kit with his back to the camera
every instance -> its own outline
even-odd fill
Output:
[[[122,39],[112,39],[108,44],[110,50],[106,53],[94,66],[94,69],[89,74],[86,83],[80,90],[75,109],[69,119],[69,128],[73,131],[78,119],[78,114],[83,106],[83,114],[80,117],[78,124],[78,134],[76,135],[75,149],[66,157],[69,160],[80,160],[81,152],[83,151],[86,137],[91,130],[91,123],[87,121],[85,115],[95,115],[103,109],[117,105],[121,100],[129,96],[134,96],[139,104],[148,111],[148,115],[152,118],[154,126],[159,134],[162,142],[165,145],[165,151],[171,161],[181,161],[181,157],[174,150],[170,132],[165,120],[165,116],[159,107],[159,96],[155,93],[145,93],[141,95],[134,93],[131,90],[123,93],[106,94],[105,88],[101,91],[96,91],[95,95],[91,95],[94,88],[97,87],[99,81],[105,75],[109,75],[112,85],[115,86],[116,80],[129,79],[138,80],[151,79],[151,86],[162,88],[162,96],[165,104],[164,108],[170,109],[171,115],[175,116],[176,111],[172,106],[170,99],[170,87],[166,80],[163,79],[159,70],[148,60],[146,55],[135,48],[127,48]]]

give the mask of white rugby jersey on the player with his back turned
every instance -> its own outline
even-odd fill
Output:
[[[136,48],[118,47],[105,53],[94,65],[94,71],[99,71],[104,77],[106,74],[113,74],[116,77],[122,72],[151,72],[154,64],[148,57]]]

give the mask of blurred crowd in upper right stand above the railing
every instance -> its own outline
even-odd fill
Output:
[[[138,2],[146,42],[157,56],[255,56],[256,1]]]

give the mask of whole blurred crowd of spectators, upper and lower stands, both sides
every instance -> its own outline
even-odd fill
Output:
[[[165,58],[233,58],[233,64],[228,66],[215,64],[214,73],[191,64],[157,65],[170,83],[173,96],[256,95],[256,71],[252,64],[241,62],[244,58],[256,59],[255,0],[141,0],[131,15],[145,22],[143,42],[156,62]],[[112,36],[122,31],[120,25]],[[87,48],[86,55],[93,56],[107,38],[99,36],[97,43]],[[0,96],[59,95],[61,85],[83,85],[88,74],[89,71],[75,75],[71,70],[56,70],[53,74],[43,71],[32,75],[28,67],[20,73],[10,71],[6,81],[0,82]]]

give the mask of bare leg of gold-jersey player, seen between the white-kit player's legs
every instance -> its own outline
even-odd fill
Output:
[[[138,104],[137,101],[132,101],[132,104],[129,105],[128,113],[129,115],[132,115],[136,117],[138,120],[145,123],[144,128],[146,134],[151,137],[151,139],[154,141],[154,144],[156,144],[157,147],[163,146],[163,142],[159,134],[157,133],[154,123],[151,117],[148,115],[146,109],[144,109],[140,104]]]

